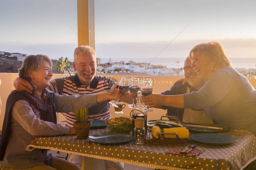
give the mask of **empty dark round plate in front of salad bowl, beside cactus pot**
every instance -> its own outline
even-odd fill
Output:
[[[129,142],[133,137],[127,134],[104,133],[91,135],[88,139],[99,144],[121,144]]]

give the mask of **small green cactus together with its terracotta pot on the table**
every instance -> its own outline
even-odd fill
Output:
[[[85,107],[82,107],[80,111],[79,109],[76,109],[75,115],[77,121],[74,122],[74,128],[77,133],[77,138],[87,139],[92,126],[92,123],[87,121],[87,109]]]

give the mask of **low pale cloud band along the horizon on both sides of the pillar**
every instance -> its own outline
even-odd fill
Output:
[[[96,43],[96,57],[108,61],[108,58],[124,61],[135,60],[150,62],[154,58],[185,58],[195,45],[202,42],[220,42],[228,57],[255,57],[256,39],[200,39],[176,42],[119,42]],[[169,44],[170,43],[170,44]],[[169,45],[168,45],[169,44]],[[167,46],[168,45],[168,46]],[[167,47],[166,47],[167,46]],[[0,51],[25,54],[45,54],[51,59],[68,57],[73,61],[77,44],[27,44],[0,43]],[[164,49],[165,48],[165,49]],[[164,50],[163,50],[164,49]],[[161,52],[162,51],[162,52]],[[104,62],[103,61],[103,62]]]

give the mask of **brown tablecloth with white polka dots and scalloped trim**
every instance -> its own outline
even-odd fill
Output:
[[[238,132],[238,130],[229,130]],[[107,128],[91,129],[90,135],[107,133]],[[196,157],[166,154],[174,147],[184,144],[145,144],[135,145],[133,141],[125,144],[102,145],[88,139],[77,139],[76,136],[40,136],[26,150],[35,148],[58,150],[82,156],[124,162],[138,166],[159,169],[243,169],[256,159],[255,136],[249,131],[243,139],[228,145],[207,145],[196,143],[196,149],[205,150]]]

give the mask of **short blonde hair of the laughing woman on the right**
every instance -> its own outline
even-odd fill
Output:
[[[216,69],[220,69],[224,66],[231,66],[230,60],[227,58],[225,54],[223,46],[218,42],[207,42],[201,43],[193,47],[189,52],[189,58],[191,59],[192,53],[198,53],[205,57],[206,61],[216,62]]]

